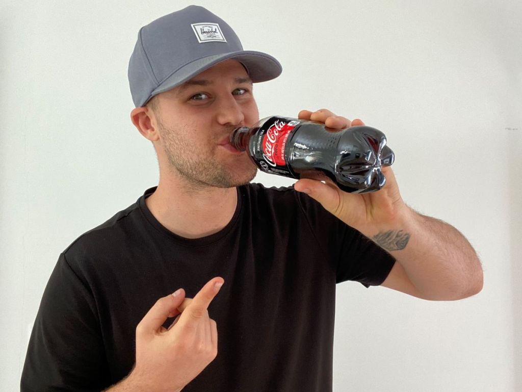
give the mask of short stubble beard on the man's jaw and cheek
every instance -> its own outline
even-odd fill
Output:
[[[211,145],[209,151],[201,151],[195,145],[184,143],[176,137],[179,132],[167,128],[159,119],[158,127],[163,139],[163,150],[169,161],[169,169],[180,174],[186,181],[187,187],[193,190],[208,187],[239,187],[249,183],[256,176],[257,167],[250,159],[242,165],[244,167],[236,171],[234,176],[233,172],[216,158],[215,145]]]

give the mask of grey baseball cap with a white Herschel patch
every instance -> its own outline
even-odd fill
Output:
[[[209,10],[191,5],[142,27],[129,60],[128,78],[134,105],[170,90],[221,61],[235,59],[252,82],[281,74],[272,56],[243,50],[234,30]]]

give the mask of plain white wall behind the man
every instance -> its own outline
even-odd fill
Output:
[[[59,253],[157,184],[127,63],[141,26],[189,4],[0,4],[0,390],[19,388]],[[459,302],[339,285],[334,390],[522,390],[522,3],[199,4],[282,63],[254,87],[261,117],[326,107],[381,129],[403,198],[483,262],[483,291]]]

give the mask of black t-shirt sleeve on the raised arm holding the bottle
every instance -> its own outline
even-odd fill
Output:
[[[296,193],[319,246],[336,269],[336,283],[355,281],[366,287],[382,284],[395,258],[308,195]]]

